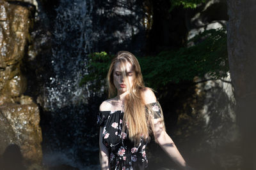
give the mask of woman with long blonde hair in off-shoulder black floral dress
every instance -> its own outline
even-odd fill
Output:
[[[138,60],[118,52],[108,71],[109,98],[100,104],[99,148],[102,169],[147,169],[145,147],[156,142],[182,169],[189,169],[165,131],[161,107],[145,87]]]

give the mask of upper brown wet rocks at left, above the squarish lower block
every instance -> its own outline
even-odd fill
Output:
[[[1,1],[0,10],[0,99],[3,104],[13,101],[8,97],[20,96],[26,90],[26,78],[20,67],[28,45],[33,10],[16,1]]]

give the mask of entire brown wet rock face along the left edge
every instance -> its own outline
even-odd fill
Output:
[[[27,82],[21,71],[34,13],[29,3],[0,2],[0,154],[17,145],[24,160],[40,164],[39,110],[31,97],[23,95]]]

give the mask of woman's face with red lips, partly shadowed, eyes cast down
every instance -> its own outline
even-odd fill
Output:
[[[132,85],[134,83],[133,82],[134,71],[132,71],[132,64],[130,62],[126,62],[125,67],[126,67],[127,81],[129,83],[129,85],[132,87]],[[113,81],[114,81],[114,85],[119,94],[122,94],[127,91],[127,84],[125,84],[125,80],[124,80],[124,76],[122,74],[122,67],[121,67],[120,62],[116,62],[116,64],[114,65]]]

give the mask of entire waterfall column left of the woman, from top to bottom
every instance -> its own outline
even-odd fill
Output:
[[[88,89],[79,87],[92,48],[92,8],[92,1],[61,0],[55,9],[52,76],[44,87],[44,115],[49,117],[45,116],[42,125],[47,166],[97,167],[97,157],[91,156],[97,154],[97,145],[90,142],[97,134],[90,128],[94,120],[88,108]]]

